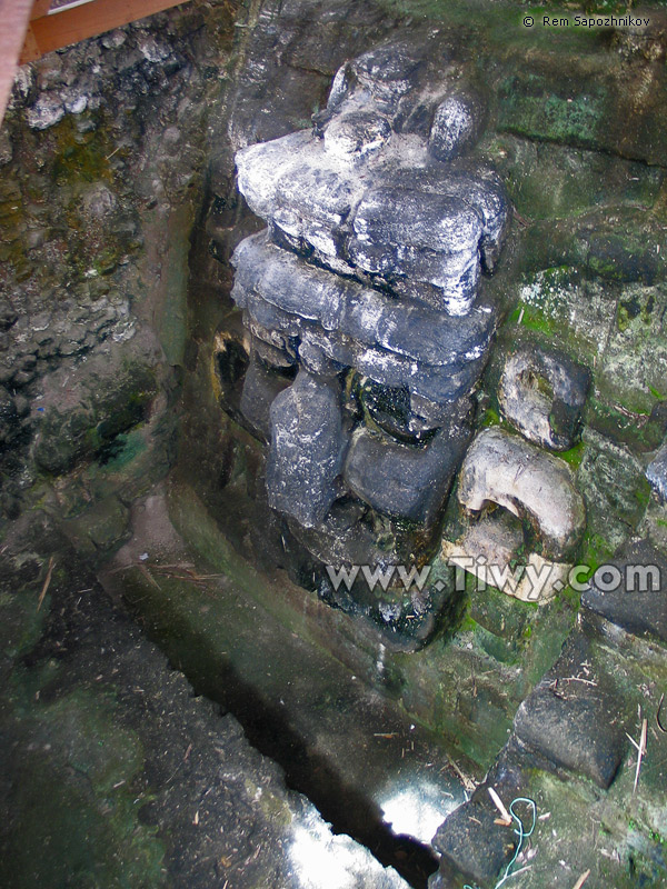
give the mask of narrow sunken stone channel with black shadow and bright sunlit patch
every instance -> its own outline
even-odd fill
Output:
[[[197,587],[161,569],[179,565],[196,565],[211,579]],[[426,886],[438,863],[430,839],[466,795],[442,739],[401,716],[384,687],[381,645],[378,690],[369,691],[368,677],[286,632],[241,586],[218,579],[171,527],[165,497],[135,509],[135,537],[104,586],[196,691],[233,713],[250,743],[279,763],[287,785],[335,832],[366,846],[411,886]]]

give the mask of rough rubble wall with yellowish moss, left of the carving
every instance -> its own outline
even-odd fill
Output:
[[[189,4],[17,74],[0,142],[0,497],[91,552],[168,469],[190,233],[231,3]]]

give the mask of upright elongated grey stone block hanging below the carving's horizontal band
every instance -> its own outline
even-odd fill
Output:
[[[269,505],[311,528],[321,522],[339,492],[336,479],[347,444],[340,393],[334,383],[301,370],[276,398],[270,413]]]

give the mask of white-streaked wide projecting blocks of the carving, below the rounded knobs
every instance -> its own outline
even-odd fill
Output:
[[[497,260],[507,198],[482,168],[431,169],[424,157],[392,151],[398,161],[371,162],[360,177],[335,163],[317,138],[290,133],[240,152],[239,188],[256,213],[297,239],[292,249],[316,249],[322,262],[360,279],[430,284],[440,307],[461,314],[472,302],[480,258],[486,269]],[[402,292],[415,293],[404,282]]]

